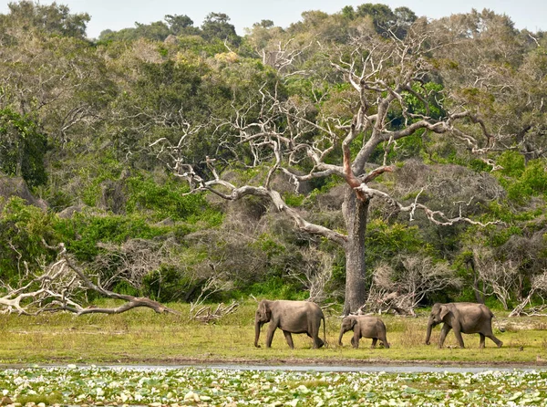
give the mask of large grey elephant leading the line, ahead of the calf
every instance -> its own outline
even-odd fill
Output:
[[[323,319],[323,337],[319,338],[319,329]],[[266,348],[272,347],[275,329],[283,330],[284,337],[291,349],[294,349],[293,333],[305,333],[314,339],[314,349],[326,343],[325,316],[319,306],[309,301],[291,301],[263,299],[254,315],[254,346],[260,348],[258,339],[263,324],[270,322],[266,333]]]

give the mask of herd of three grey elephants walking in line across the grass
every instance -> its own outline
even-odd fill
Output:
[[[439,348],[442,348],[444,340],[450,329],[454,330],[454,335],[458,340],[459,348],[464,348],[462,333],[478,333],[480,335],[480,348],[484,348],[484,339],[490,338],[494,343],[501,347],[503,342],[497,339],[492,333],[493,314],[490,308],[484,304],[474,304],[470,302],[452,302],[448,304],[435,304],[431,308],[431,314],[428,319],[428,333],[426,335],[426,344],[429,344],[431,338],[431,329],[440,323],[443,327],[440,331]],[[323,337],[319,338],[323,320]],[[263,299],[256,310],[254,317],[254,346],[260,348],[258,339],[263,324],[270,323],[266,332],[266,348],[272,346],[275,329],[283,330],[284,337],[291,349],[294,349],[292,334],[305,333],[314,340],[314,348],[318,349],[325,345],[326,328],[325,316],[319,306],[308,301],[290,301]],[[338,345],[342,346],[342,337],[348,330],[353,330],[354,336],[351,344],[354,348],[359,347],[359,339],[372,339],[372,348],[375,348],[377,341],[380,340],[384,348],[389,348],[386,337],[386,324],[377,317],[368,315],[348,315],[342,319],[340,327],[340,336]]]

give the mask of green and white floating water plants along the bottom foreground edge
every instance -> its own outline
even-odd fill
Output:
[[[545,370],[386,373],[198,368],[0,371],[12,402],[129,405],[525,405],[547,398]]]

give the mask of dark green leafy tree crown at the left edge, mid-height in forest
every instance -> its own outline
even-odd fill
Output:
[[[28,116],[0,110],[0,170],[22,176],[30,187],[47,182],[44,156],[46,136]]]

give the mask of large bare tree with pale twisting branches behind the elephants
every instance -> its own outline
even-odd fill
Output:
[[[411,136],[445,135],[450,141],[465,142],[486,165],[494,165],[488,154],[495,145],[496,133],[487,130],[479,116],[461,105],[445,102],[443,109],[439,106],[439,89],[425,86],[429,78],[435,77],[428,55],[440,46],[427,24],[418,21],[404,40],[364,34],[348,47],[325,49],[324,53],[336,56],[331,67],[337,78],[345,79],[344,84],[292,96],[287,96],[283,83],[275,89],[259,89],[262,99],[258,115],[245,114],[250,107],[237,110],[230,127],[220,126],[219,133],[227,145],[246,148],[245,163],[263,169],[260,185],[236,186],[222,178],[214,157],[205,158],[209,172],[196,172],[196,163],[185,158],[186,136],[174,145],[166,145],[164,139],[153,145],[163,147],[161,153],[169,154],[172,160],[171,170],[188,181],[194,191],[209,191],[232,201],[248,195],[263,197],[290,216],[300,230],[343,247],[344,313],[355,312],[366,302],[365,235],[371,200],[386,201],[396,212],[410,214],[411,220],[423,211],[434,224],[480,224],[464,215],[461,203],[453,216],[420,203],[425,186],[404,204],[373,183],[382,174],[397,170],[387,162],[389,152]],[[449,92],[444,93],[448,98]],[[459,122],[465,126],[459,127]],[[239,165],[242,163],[239,161]],[[233,165],[238,165],[237,160]],[[289,206],[273,187],[274,177],[279,174],[289,177],[296,191],[301,183],[318,183],[328,177],[346,183],[346,233],[309,222],[304,213]]]

